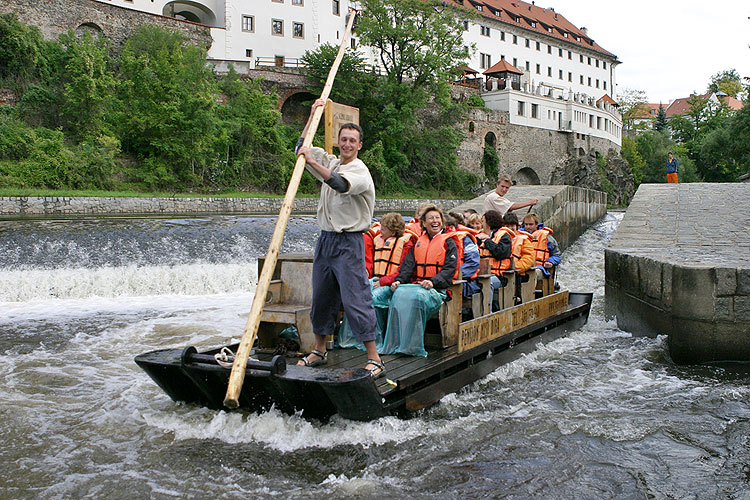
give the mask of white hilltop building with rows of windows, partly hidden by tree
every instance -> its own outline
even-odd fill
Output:
[[[243,73],[261,66],[295,66],[305,51],[338,45],[349,0],[97,0],[211,26],[208,56],[218,71],[231,63]],[[553,1],[553,0],[549,0]],[[469,66],[480,72],[504,59],[520,70],[516,88],[487,87],[491,109],[509,113],[511,124],[592,135],[620,144],[616,103],[617,57],[552,8],[521,0],[444,0],[470,9],[464,21]],[[469,16],[467,16],[469,17]],[[351,40],[358,47],[356,33]],[[371,63],[368,50],[361,54]],[[488,79],[492,84],[492,80]],[[510,87],[510,86],[509,86]],[[493,90],[494,88],[494,90]]]

